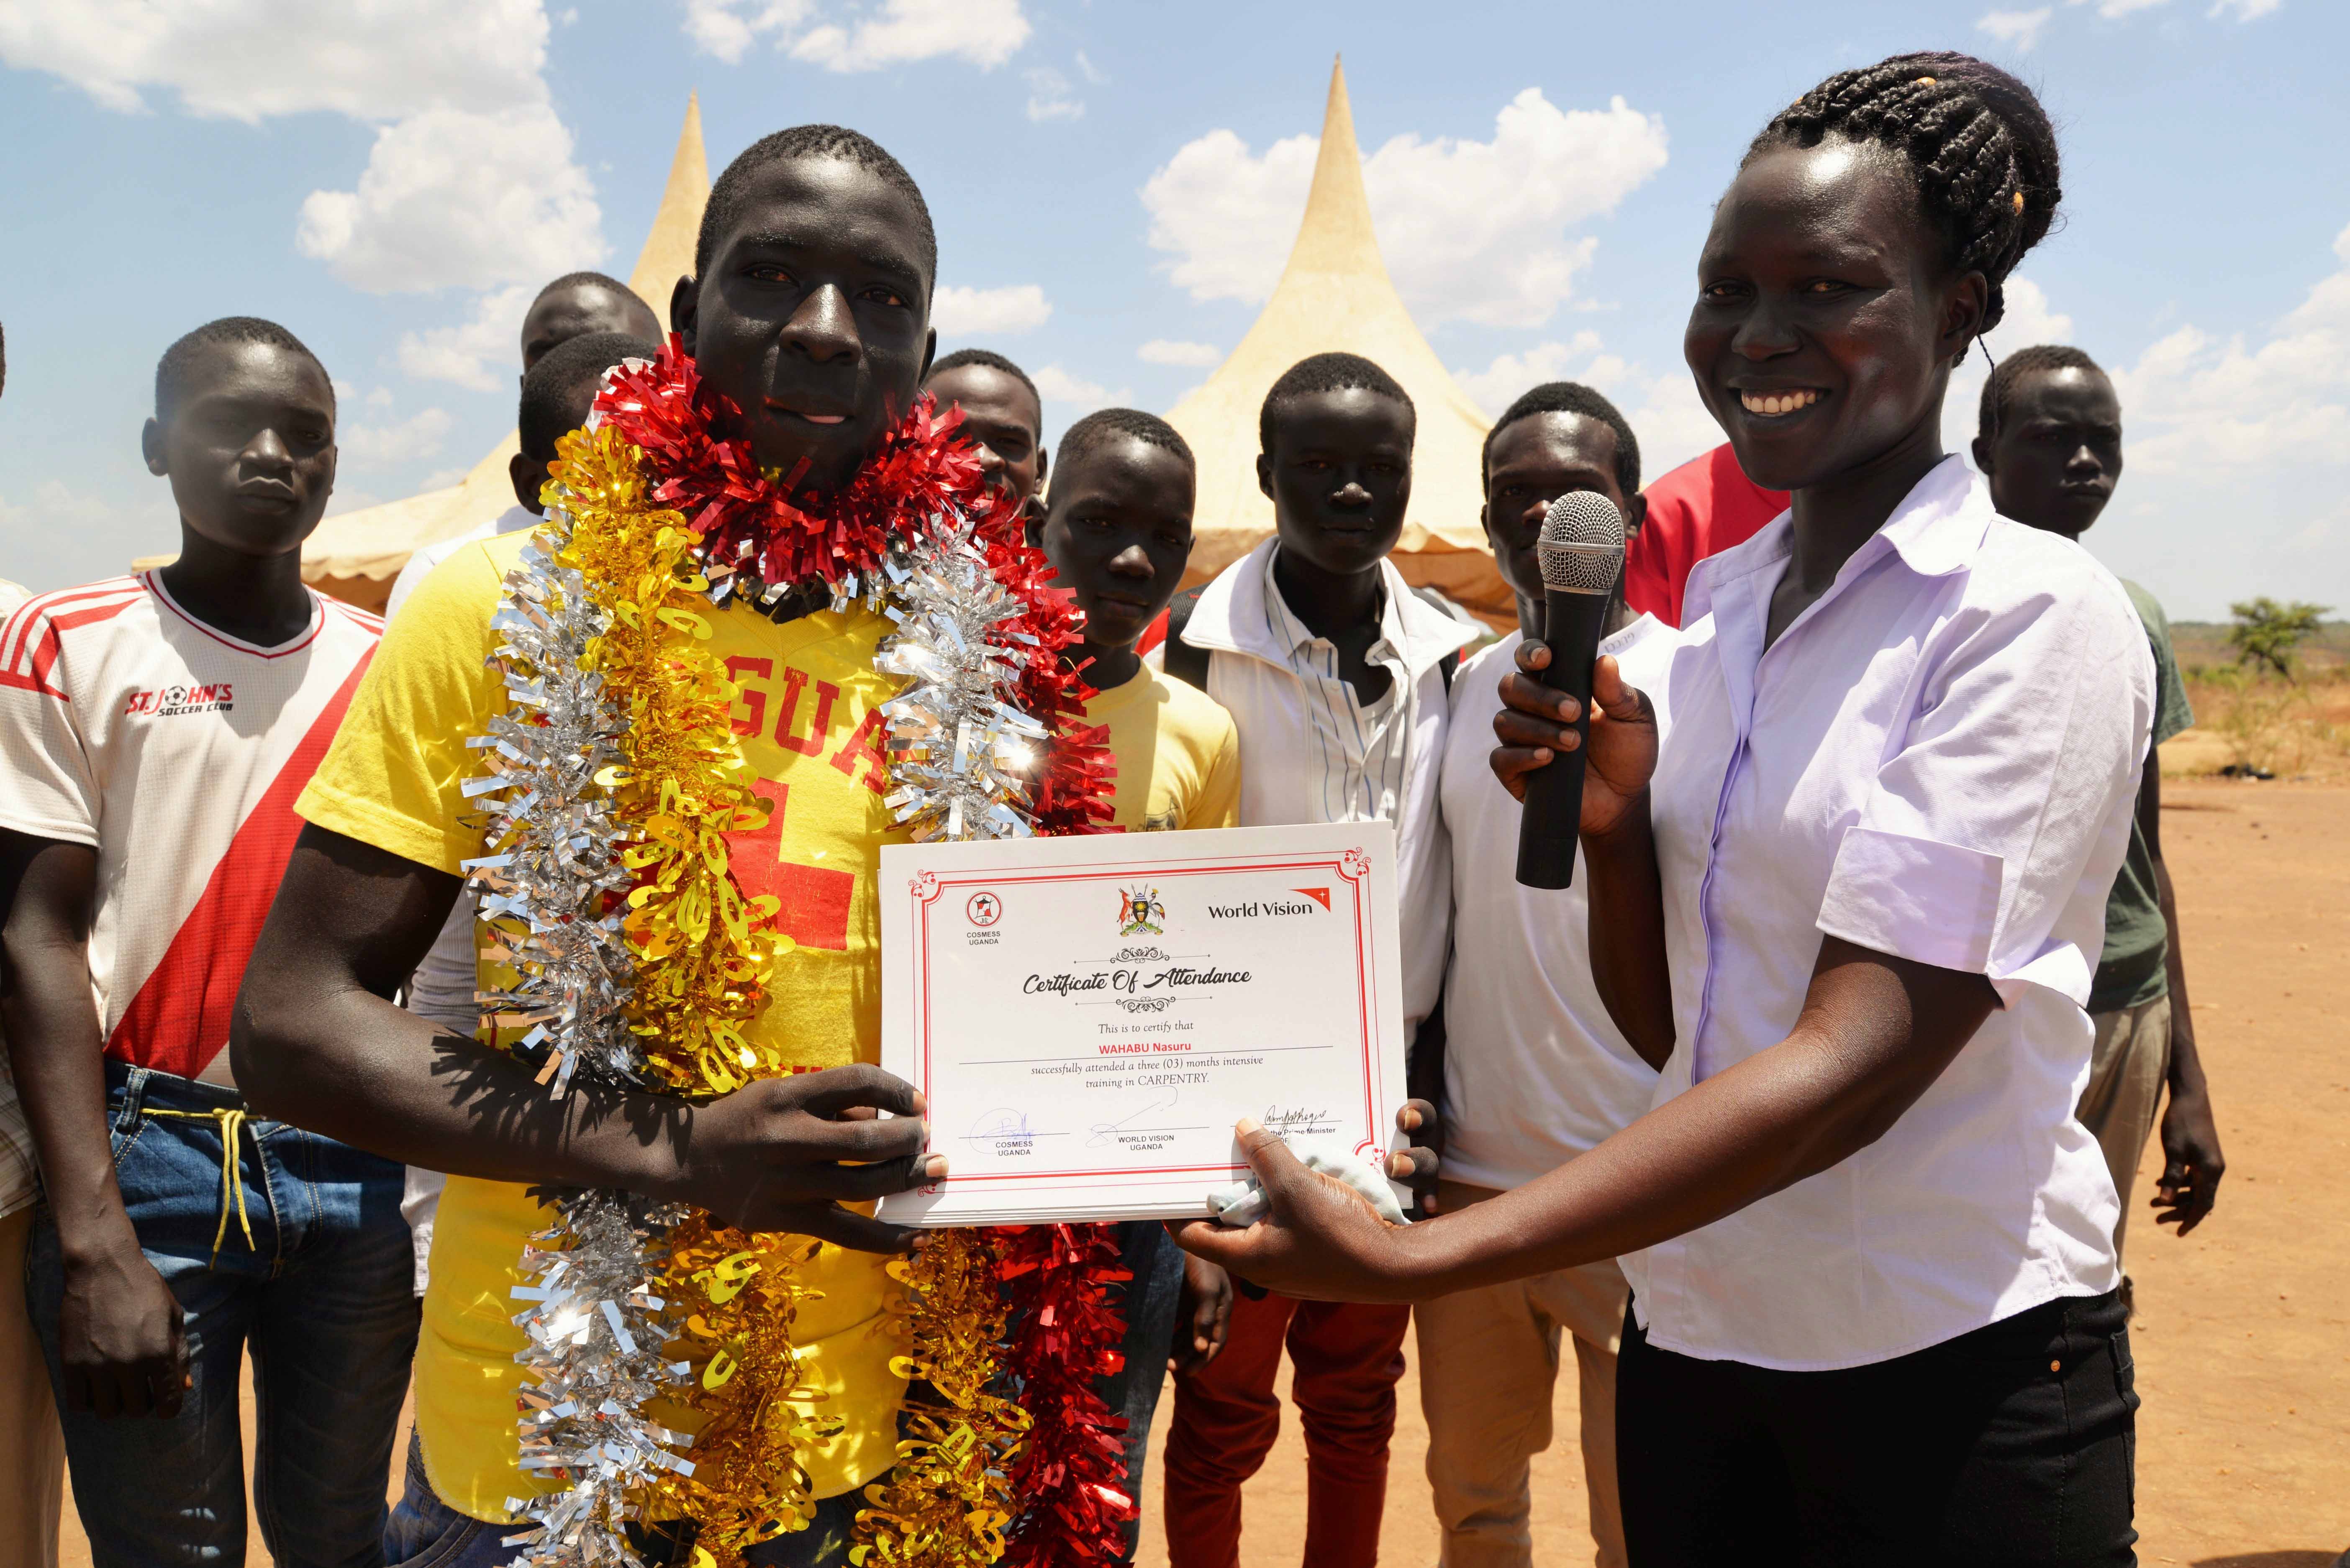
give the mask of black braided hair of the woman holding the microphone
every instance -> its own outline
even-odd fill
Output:
[[[1918,205],[1941,235],[1950,270],[1990,280],[1981,329],[1998,327],[2007,275],[2047,237],[2063,200],[2056,127],[2033,89],[1972,54],[1896,54],[1838,71],[1788,103],[1744,162],[1779,146],[1817,148],[1828,136],[1908,160]]]

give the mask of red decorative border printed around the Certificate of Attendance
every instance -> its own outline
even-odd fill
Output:
[[[1300,858],[1203,858],[1194,863],[1182,860],[1119,860],[1119,863],[1086,863],[1067,865],[1036,872],[921,872],[907,882],[907,893],[914,900],[914,961],[912,961],[912,985],[914,985],[914,1060],[919,1065],[919,1081],[914,1088],[928,1098],[931,1093],[931,910],[956,889],[999,889],[999,886],[1027,886],[1046,882],[1109,882],[1123,877],[1222,877],[1231,872],[1330,872],[1347,884],[1347,896],[1354,907],[1354,971],[1356,971],[1356,1044],[1363,1053],[1363,1128],[1365,1138],[1356,1145],[1356,1154],[1370,1154],[1375,1150],[1384,1152],[1384,1140],[1379,1138],[1377,1107],[1384,1100],[1386,1081],[1379,1063],[1379,1051],[1375,1048],[1377,1027],[1372,1023],[1375,1009],[1379,1006],[1379,976],[1377,976],[1377,933],[1372,931],[1370,900],[1363,898],[1363,882],[1370,877],[1370,856],[1361,849],[1318,851]],[[1246,1161],[1229,1164],[1206,1164],[1206,1166],[1107,1166],[1100,1171],[992,1171],[956,1175],[952,1168],[938,1182],[921,1187],[924,1192],[942,1192],[945,1187],[982,1185],[996,1187],[999,1182],[1072,1182],[1100,1175],[1246,1175]]]

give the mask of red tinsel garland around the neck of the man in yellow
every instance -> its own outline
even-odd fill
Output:
[[[1036,780],[1036,832],[1116,832],[1112,825],[1109,729],[1086,724],[1095,696],[1065,654],[1083,642],[1083,616],[1048,581],[1043,550],[1020,534],[1020,517],[996,505],[978,456],[959,435],[961,411],[940,416],[921,395],[874,449],[858,477],[830,503],[808,510],[792,484],[759,470],[750,442],[719,435],[736,423],[731,402],[700,383],[677,336],[644,367],[620,369],[597,409],[625,440],[651,456],[660,475],[653,496],[684,512],[700,534],[700,557],[768,585],[839,583],[865,576],[888,552],[893,534],[935,517],[978,517],[987,564],[1022,604],[996,625],[992,642],[1018,661],[1018,701],[1050,729]],[[792,475],[797,477],[797,475]],[[1003,1262],[1010,1335],[1003,1371],[1032,1427],[1013,1474],[1020,1519],[1003,1549],[1015,1568],[1102,1568],[1126,1552],[1135,1502],[1126,1495],[1126,1418],[1109,1410],[1095,1385],[1123,1363],[1126,1319],[1112,1305],[1119,1234],[1109,1225],[1025,1225],[994,1229]]]

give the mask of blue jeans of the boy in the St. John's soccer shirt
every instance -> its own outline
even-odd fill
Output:
[[[96,1568],[244,1561],[237,1382],[247,1349],[254,1512],[270,1556],[280,1568],[383,1563],[383,1483],[416,1354],[402,1168],[249,1119],[235,1135],[244,1220],[230,1201],[223,1237],[223,1121],[212,1114],[242,1105],[233,1088],[106,1063],[115,1182],[141,1251],[186,1314],[193,1385],[172,1420],[61,1410],[73,1502]],[[56,1222],[42,1204],[26,1305],[59,1406],[61,1298]]]

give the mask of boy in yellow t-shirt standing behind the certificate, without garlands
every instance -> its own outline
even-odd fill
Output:
[[[1069,425],[1053,458],[1053,489],[1029,543],[1041,548],[1086,611],[1086,663],[1095,696],[1086,724],[1109,729],[1116,759],[1116,823],[1126,832],[1231,827],[1241,816],[1241,738],[1215,698],[1159,675],[1135,654],[1142,628],[1166,611],[1191,557],[1191,447],[1170,423],[1135,409],[1102,409]],[[1090,663],[1088,663],[1090,661]],[[1126,1493],[1140,1505],[1152,1413],[1168,1354],[1206,1363],[1224,1342],[1231,1286],[1194,1267],[1156,1222],[1121,1225],[1126,1368],[1102,1399],[1126,1415]],[[1133,1556],[1137,1523],[1128,1526]]]

